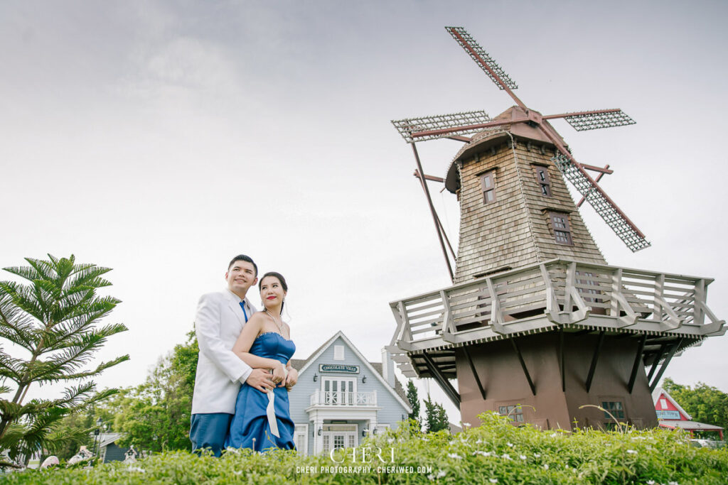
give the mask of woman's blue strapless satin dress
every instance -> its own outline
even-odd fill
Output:
[[[276,332],[265,332],[258,335],[249,352],[258,357],[274,358],[284,365],[293,356],[296,345],[291,340],[285,340]],[[270,448],[296,449],[293,444],[293,421],[290,420],[288,406],[288,390],[277,387],[274,407],[278,423],[280,438],[271,433],[266,414],[269,398],[266,393],[248,384],[240,386],[235,402],[235,414],[230,423],[230,432],[225,440],[225,446],[233,448],[250,448],[261,452]],[[253,441],[253,439],[255,441]]]

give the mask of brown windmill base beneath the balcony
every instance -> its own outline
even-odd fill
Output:
[[[510,412],[514,424],[529,422],[543,429],[572,430],[574,425],[612,428],[614,420],[592,407],[603,406],[611,408],[618,421],[636,428],[657,426],[652,393],[641,362],[632,392],[628,390],[639,351],[638,335],[604,335],[599,345],[598,334],[585,332],[564,332],[563,347],[559,332],[547,332],[514,337],[515,346],[509,340],[500,340],[467,345],[467,352],[456,349],[463,422],[478,425],[478,414],[494,411]],[[519,404],[521,408],[509,407]]]

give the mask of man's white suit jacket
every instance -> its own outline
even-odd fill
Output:
[[[246,298],[248,318],[256,311]],[[236,356],[232,347],[245,325],[240,297],[225,289],[203,294],[197,305],[194,328],[199,344],[194,378],[192,414],[226,412],[234,414],[240,384],[252,369]]]

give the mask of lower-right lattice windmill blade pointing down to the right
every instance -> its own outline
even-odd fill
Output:
[[[612,199],[609,199],[609,196],[602,191],[601,187],[593,183],[585,175],[585,172],[574,164],[569,156],[561,154],[551,160],[632,252],[650,246],[649,242],[644,238],[644,234],[624,215]]]

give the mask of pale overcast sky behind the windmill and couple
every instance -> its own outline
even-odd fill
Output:
[[[715,278],[726,318],[726,18],[724,1],[2,2],[0,266],[114,268],[109,321],[129,332],[100,358],[131,360],[102,387],[142,382],[241,252],[288,278],[296,358],[341,329],[379,361],[388,302],[449,284],[389,120],[513,104],[443,28],[462,25],[529,107],[637,121],[553,124],[579,161],[611,165],[601,185],[652,247],[582,215],[612,265]],[[425,171],[460,145],[420,143]],[[431,190],[456,239],[454,196]],[[728,391],[727,352],[711,338],[665,376]]]

